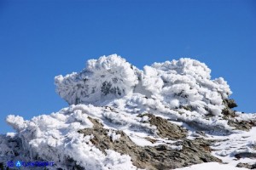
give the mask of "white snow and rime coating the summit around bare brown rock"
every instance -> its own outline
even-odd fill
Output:
[[[221,139],[212,146],[212,155],[229,165],[213,162],[182,169],[236,169],[241,161],[234,161],[234,154],[255,153],[256,130],[235,131],[223,119],[223,99],[230,96],[230,87],[222,77],[211,80],[210,73],[207,65],[195,59],[154,63],[144,66],[143,71],[116,54],[90,59],[83,71],[55,77],[57,94],[70,106],[32,120],[14,115],[6,118],[17,133],[0,136],[0,160],[54,161],[55,167],[49,169],[70,169],[74,165],[86,169],[137,169],[130,156],[113,150],[104,154],[90,142],[93,135],[84,136],[78,131],[93,127],[90,116],[109,129],[113,141],[120,138],[115,130],[122,130],[135,144],[168,144],[182,150],[182,146],[172,145],[175,141],[160,139],[157,128],[145,115],[150,113],[183,125],[189,130],[189,139],[198,135],[188,126],[191,123],[207,132],[201,138]],[[236,115],[240,121],[256,120],[256,114]],[[158,142],[152,144],[145,137]]]

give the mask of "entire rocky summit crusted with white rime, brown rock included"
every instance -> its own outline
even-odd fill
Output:
[[[116,54],[90,59],[55,77],[69,107],[7,117],[17,133],[0,135],[0,169],[10,160],[54,161],[48,169],[256,167],[256,114],[233,111],[229,85],[210,74],[195,59],[143,70]]]

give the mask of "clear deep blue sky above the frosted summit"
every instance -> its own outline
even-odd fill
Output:
[[[54,77],[119,54],[139,68],[189,57],[256,112],[256,1],[0,0],[0,133],[9,114],[59,111]]]

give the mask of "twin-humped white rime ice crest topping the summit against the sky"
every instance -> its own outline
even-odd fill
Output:
[[[189,106],[202,115],[218,116],[231,91],[222,77],[211,80],[210,73],[207,65],[195,59],[154,63],[139,71],[113,54],[90,59],[79,73],[55,77],[55,84],[57,93],[70,105],[105,105],[106,100],[134,93],[141,86],[143,90],[137,94],[159,99],[172,109]]]

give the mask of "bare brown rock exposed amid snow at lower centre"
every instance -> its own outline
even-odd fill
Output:
[[[152,122],[159,130],[158,134],[160,136],[165,136],[168,139],[183,139],[186,136],[186,131],[182,127],[167,122],[158,116],[148,116],[150,117],[149,122]],[[94,138],[90,139],[90,142],[96,148],[102,150],[103,153],[106,153],[106,150],[109,149],[131,156],[133,165],[139,168],[172,169],[202,162],[220,162],[217,157],[212,156],[210,153],[211,141],[204,139],[183,139],[173,143],[172,146],[168,144],[139,146],[132,142],[122,131],[114,131],[114,133],[119,135],[119,139],[113,139],[108,135],[109,129],[104,128],[96,119],[90,118],[90,122],[93,122],[94,126],[79,130],[79,133],[84,133],[84,136],[92,134]],[[168,132],[168,135],[167,133],[163,133],[164,131]],[[175,131],[181,133],[181,135],[177,135],[176,133],[172,135]]]

